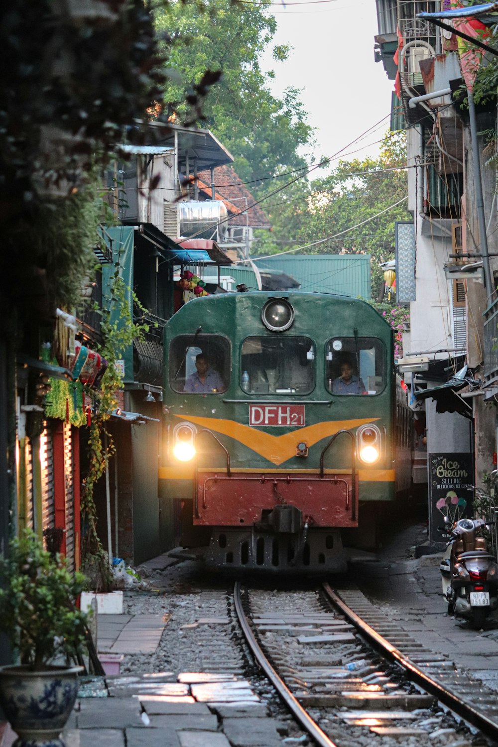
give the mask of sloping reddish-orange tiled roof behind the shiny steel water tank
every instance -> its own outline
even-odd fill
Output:
[[[211,198],[211,171],[199,171],[197,176],[199,190]],[[214,170],[214,184],[216,185],[216,199],[222,199],[228,210],[229,225],[246,226],[246,205],[252,205],[253,202],[256,202],[255,196],[249,192],[242,179],[228,164],[219,166]],[[247,212],[249,214],[249,226],[258,229],[270,228],[270,220],[260,205],[249,208]]]

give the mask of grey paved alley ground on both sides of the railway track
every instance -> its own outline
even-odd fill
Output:
[[[460,668],[477,670],[498,692],[498,621],[490,619],[476,632],[446,616],[439,557],[414,559],[425,537],[423,522],[406,521],[375,559],[358,554],[349,580],[400,628]],[[149,590],[127,592],[124,614],[99,615],[99,652],[121,660],[120,672],[81,682],[64,732],[66,746],[305,743],[302,731],[276,708],[271,689],[246,679],[247,660],[227,607],[231,582],[213,583],[196,563],[167,555],[145,570]],[[0,747],[10,747],[13,739],[4,728]]]

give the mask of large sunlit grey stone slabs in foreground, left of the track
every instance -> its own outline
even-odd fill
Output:
[[[281,747],[287,726],[235,675],[81,678],[66,747]],[[0,747],[11,747],[10,728]]]

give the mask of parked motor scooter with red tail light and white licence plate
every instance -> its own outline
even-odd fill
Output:
[[[486,527],[482,518],[455,521],[439,566],[448,614],[469,620],[477,630],[498,608],[498,565],[485,538],[476,536],[482,527]]]

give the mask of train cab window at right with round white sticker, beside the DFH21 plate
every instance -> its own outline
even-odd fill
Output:
[[[326,386],[332,394],[379,394],[385,348],[374,337],[335,337],[326,344]]]

